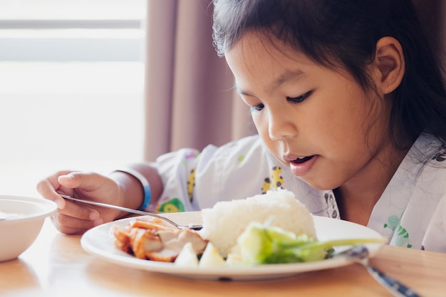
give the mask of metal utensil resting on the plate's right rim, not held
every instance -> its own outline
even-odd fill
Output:
[[[383,273],[383,271],[370,266],[368,263],[368,249],[365,246],[353,246],[353,248],[347,249],[346,251],[342,251],[341,253],[333,256],[345,256],[347,259],[363,265],[365,269],[367,269],[368,273],[370,273],[370,275],[373,276],[378,283],[392,292],[394,296],[420,297],[418,293],[413,291],[408,286],[405,286],[400,281],[397,281],[395,278]]]

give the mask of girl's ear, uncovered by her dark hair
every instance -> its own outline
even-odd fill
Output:
[[[398,88],[405,72],[403,47],[393,37],[383,37],[376,43],[375,83],[383,94]]]

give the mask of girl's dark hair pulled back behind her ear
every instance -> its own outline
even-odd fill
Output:
[[[279,38],[322,66],[340,65],[364,89],[374,88],[365,68],[376,43],[393,36],[405,57],[405,75],[393,91],[393,141],[405,147],[422,132],[446,140],[442,68],[410,0],[214,0],[213,29],[219,56],[255,31]]]

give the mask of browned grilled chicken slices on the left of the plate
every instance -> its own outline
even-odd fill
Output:
[[[197,254],[202,254],[207,240],[197,231],[177,229],[161,219],[135,219],[124,228],[115,226],[115,246],[139,259],[173,262],[187,242]]]

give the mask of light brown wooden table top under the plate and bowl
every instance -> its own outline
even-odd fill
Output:
[[[359,264],[271,281],[200,281],[110,264],[80,239],[47,220],[24,254],[0,263],[0,296],[392,296]],[[446,296],[446,254],[384,246],[370,263],[421,296]]]

